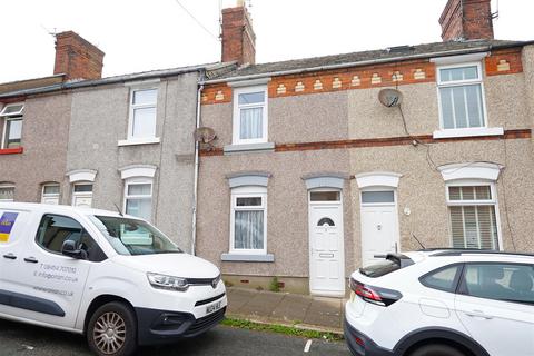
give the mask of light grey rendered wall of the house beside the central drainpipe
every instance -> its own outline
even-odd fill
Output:
[[[156,80],[118,82],[72,93],[66,172],[95,172],[92,206],[125,206],[121,170],[148,167],[152,181],[150,220],[190,250],[194,199],[197,81],[199,71]],[[157,89],[156,137],[159,142],[123,145],[137,88]],[[142,170],[141,170],[142,171]],[[154,176],[152,176],[154,175]],[[134,178],[134,177],[131,177]]]

